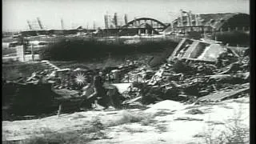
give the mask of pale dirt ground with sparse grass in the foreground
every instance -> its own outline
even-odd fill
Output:
[[[61,114],[60,117],[3,121],[2,139],[31,143],[24,139],[59,134],[59,141],[60,136],[66,134],[64,137],[71,138],[59,143],[219,143],[223,135],[249,130],[248,96],[204,105],[166,100],[149,107],[146,110],[90,110]]]

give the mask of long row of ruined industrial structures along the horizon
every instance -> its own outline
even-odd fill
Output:
[[[223,13],[223,14],[192,14],[191,11],[180,11],[180,16],[173,22],[164,23],[154,18],[133,18],[128,21],[128,15],[119,16],[117,13],[113,15],[104,15],[104,28],[96,26],[93,30],[83,29],[78,26],[77,29],[65,30],[63,21],[61,21],[62,29],[45,30],[39,18],[38,29],[34,30],[28,21],[30,30],[22,31],[22,36],[37,35],[66,35],[79,33],[92,33],[101,36],[123,36],[123,35],[140,35],[140,34],[188,34],[197,32],[205,33],[222,33],[231,31],[246,32],[250,30],[250,15],[242,13]]]

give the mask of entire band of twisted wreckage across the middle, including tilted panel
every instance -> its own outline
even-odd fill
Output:
[[[46,70],[30,78],[3,82],[5,111],[10,114],[79,110],[79,102],[92,94],[92,78],[102,71],[108,96],[122,106],[150,104],[165,99],[180,102],[219,101],[249,94],[249,48],[222,46],[183,38],[170,57],[152,70],[140,62],[104,70],[59,69],[41,62]]]

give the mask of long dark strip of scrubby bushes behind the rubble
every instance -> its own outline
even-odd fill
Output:
[[[161,42],[139,42],[137,44],[106,43],[85,40],[62,40],[41,51],[43,59],[70,61],[88,60],[91,58],[120,56],[127,54],[144,54],[161,52],[166,48],[174,47],[176,42],[163,40]]]

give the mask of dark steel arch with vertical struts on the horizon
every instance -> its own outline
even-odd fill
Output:
[[[160,22],[154,18],[136,18],[130,22],[127,22],[127,24],[122,26],[121,28],[127,28],[130,26],[138,27],[138,26],[141,26],[142,23],[147,23],[150,26],[152,26],[154,29],[165,29],[166,28],[166,25],[163,22]]]

